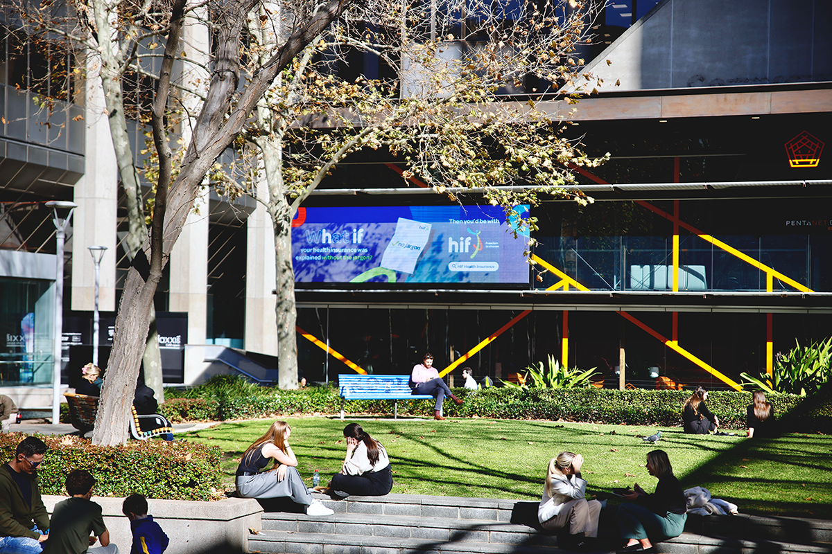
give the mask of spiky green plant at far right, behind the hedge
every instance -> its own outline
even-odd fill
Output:
[[[765,392],[783,392],[805,396],[819,390],[830,376],[832,362],[832,336],[826,341],[800,346],[795,339],[795,348],[787,354],[777,353],[771,375],[760,373],[754,377],[741,373],[743,386]]]

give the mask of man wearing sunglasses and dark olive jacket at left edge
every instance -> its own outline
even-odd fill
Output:
[[[0,467],[0,554],[38,554],[49,532],[49,515],[37,483],[47,445],[37,437],[17,444],[14,459]]]

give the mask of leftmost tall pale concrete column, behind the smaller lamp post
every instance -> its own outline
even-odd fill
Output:
[[[72,215],[72,310],[92,311],[95,298],[95,264],[88,246],[106,246],[102,258],[98,306],[116,309],[116,208],[118,207],[118,165],[112,147],[110,125],[104,115],[104,96],[98,80],[99,65],[90,61],[86,79],[84,119],[86,170],[75,185]]]

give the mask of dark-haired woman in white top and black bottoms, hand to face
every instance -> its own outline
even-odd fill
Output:
[[[393,472],[390,459],[379,441],[361,429],[359,424],[344,427],[347,439],[347,456],[341,473],[336,473],[329,483],[334,498],[346,498],[350,494],[380,497],[393,488]]]

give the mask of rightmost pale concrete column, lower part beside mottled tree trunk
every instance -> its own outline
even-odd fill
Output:
[[[268,198],[265,183],[257,188],[261,199]],[[261,203],[246,220],[247,257],[245,260],[245,350],[277,355],[275,316],[275,232],[269,213]]]

